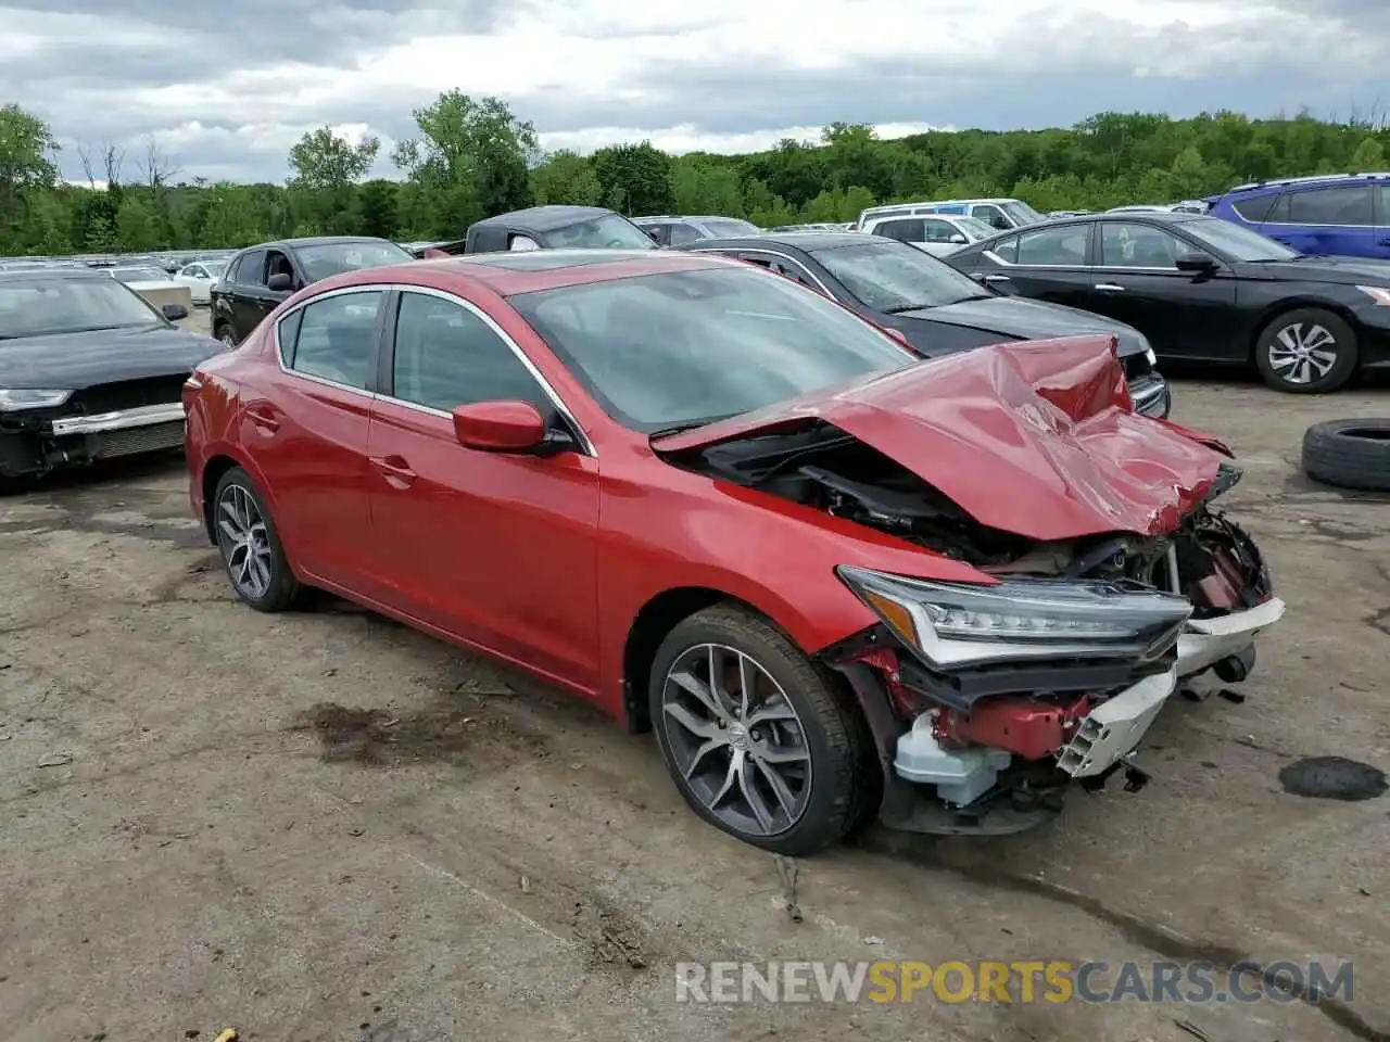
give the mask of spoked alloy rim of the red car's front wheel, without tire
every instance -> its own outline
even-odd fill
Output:
[[[806,732],[752,656],[713,643],[688,647],[666,674],[662,710],[674,767],[720,822],[771,836],[801,820],[812,781]]]

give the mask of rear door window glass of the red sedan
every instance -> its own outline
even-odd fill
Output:
[[[377,311],[382,296],[377,289],[335,293],[284,318],[279,349],[285,364],[306,377],[366,390],[375,358]],[[297,331],[291,318],[297,322]]]

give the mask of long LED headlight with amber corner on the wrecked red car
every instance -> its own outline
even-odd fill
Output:
[[[1113,582],[927,582],[840,565],[841,579],[909,647],[937,667],[1017,659],[1136,659],[1165,652],[1193,607],[1186,597]]]

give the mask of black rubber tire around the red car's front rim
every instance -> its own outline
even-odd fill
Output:
[[[767,835],[720,820],[678,768],[666,713],[664,689],[671,667],[694,647],[720,645],[755,660],[781,688],[794,709],[809,752],[809,795],[796,820]],[[737,604],[716,604],[681,621],[656,652],[648,681],[652,729],[662,759],[681,796],[705,821],[764,850],[794,857],[838,843],[869,814],[873,786],[867,774],[872,741],[863,716],[834,678],[812,663],[762,615]]]

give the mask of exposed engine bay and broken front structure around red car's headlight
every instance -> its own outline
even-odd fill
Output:
[[[894,535],[1001,582],[1104,581],[1180,595],[1191,606],[1166,650],[1140,663],[938,668],[892,627],[831,649],[827,661],[856,688],[872,684],[887,693],[897,722],[888,728],[894,760],[884,820],[895,824],[897,817],[901,828],[1019,831],[1038,814],[1055,813],[1072,782],[1098,788],[1123,771],[1126,788],[1140,788],[1147,775],[1133,749],[1177,678],[1215,668],[1223,679],[1243,679],[1254,663],[1258,628],[1241,620],[1269,614],[1273,621],[1283,611],[1254,540],[1211,508],[1211,500],[1240,479],[1240,470],[1226,463],[1175,531],[1038,542],[981,525],[927,481],[824,422],[706,446],[670,461]],[[1183,672],[1184,653],[1190,672]],[[915,782],[908,791],[935,799],[924,810],[915,795],[903,796],[903,781]],[[895,793],[898,806],[890,813]]]

